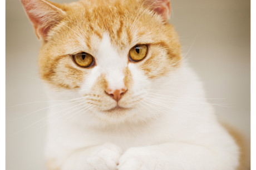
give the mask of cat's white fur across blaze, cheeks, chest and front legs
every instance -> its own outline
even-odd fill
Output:
[[[235,169],[238,147],[216,120],[201,82],[189,66],[181,63],[168,76],[151,81],[136,63],[128,64],[126,57],[115,51],[105,34],[96,56],[97,67],[80,90],[48,89],[55,101],[79,98],[90,92],[101,73],[111,87],[120,88],[124,86],[122,71],[128,67],[134,81],[129,90],[142,99],[129,105],[124,101],[132,98],[124,96],[121,106],[133,109],[120,117],[90,109],[82,101],[61,106],[62,102],[53,102],[58,106],[50,112],[47,158],[56,159],[65,170]],[[114,105],[112,100],[110,106]]]

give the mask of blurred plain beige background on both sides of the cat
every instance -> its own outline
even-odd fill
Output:
[[[6,5],[6,165],[15,170],[45,169],[47,108],[37,110],[48,104],[23,104],[47,101],[37,68],[40,42],[21,2],[8,0]],[[216,106],[216,113],[237,127],[249,146],[250,1],[171,0],[171,6],[171,23],[180,35],[183,53],[191,47],[187,57],[203,79],[207,97],[224,98],[211,101],[229,104]]]

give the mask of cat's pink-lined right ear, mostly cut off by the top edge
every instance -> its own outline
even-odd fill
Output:
[[[170,0],[144,0],[144,4],[147,8],[152,9],[157,14],[160,14],[164,21],[168,21],[168,19],[170,18]]]

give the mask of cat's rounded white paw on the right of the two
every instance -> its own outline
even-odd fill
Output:
[[[161,169],[159,160],[154,156],[154,153],[147,148],[130,148],[119,160],[119,170],[151,170]]]

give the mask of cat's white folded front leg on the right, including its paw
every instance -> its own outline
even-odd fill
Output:
[[[233,149],[186,143],[165,143],[127,149],[119,160],[119,170],[234,170],[238,152]]]

